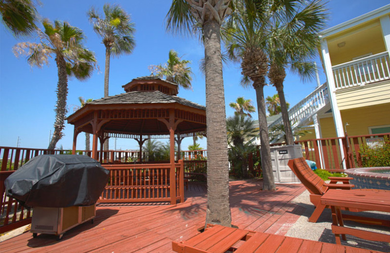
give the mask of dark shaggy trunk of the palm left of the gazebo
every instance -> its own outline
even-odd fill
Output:
[[[66,74],[66,62],[63,57],[56,56],[58,68],[58,83],[57,83],[57,104],[56,121],[54,123],[54,132],[50,144],[47,149],[54,149],[57,142],[62,138],[62,130],[65,128],[66,98],[68,96],[68,76]]]

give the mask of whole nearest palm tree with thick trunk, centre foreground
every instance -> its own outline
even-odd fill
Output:
[[[205,52],[207,118],[206,224],[231,226],[229,160],[226,140],[225,96],[222,77],[220,28],[231,13],[230,0],[173,0],[167,29],[198,32]]]

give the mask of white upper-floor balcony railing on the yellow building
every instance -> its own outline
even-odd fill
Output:
[[[336,90],[390,79],[389,53],[370,55],[332,67]]]

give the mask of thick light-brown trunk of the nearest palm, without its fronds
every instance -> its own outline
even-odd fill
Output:
[[[229,206],[229,161],[220,25],[215,20],[209,20],[204,23],[203,32],[208,153],[206,224],[230,227],[232,217]]]

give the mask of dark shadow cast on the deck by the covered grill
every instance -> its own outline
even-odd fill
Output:
[[[66,231],[61,240],[58,240],[58,236],[56,235],[38,234],[36,238],[31,235],[31,238],[28,239],[27,246],[31,248],[39,248],[66,241],[80,233],[95,228],[102,221],[108,219],[109,217],[115,216],[117,213],[118,210],[115,209],[97,209],[93,223],[91,221],[86,221],[85,223],[79,224],[78,226]]]

